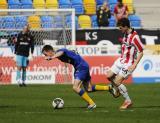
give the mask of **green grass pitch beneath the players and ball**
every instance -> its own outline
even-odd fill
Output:
[[[90,96],[97,108],[88,111],[71,85],[1,85],[0,123],[160,123],[160,84],[127,87],[132,108],[119,110],[122,97],[94,92]],[[56,97],[64,99],[64,109],[53,109],[51,103]]]

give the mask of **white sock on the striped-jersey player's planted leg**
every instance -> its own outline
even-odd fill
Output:
[[[123,84],[120,84],[118,86],[118,90],[122,94],[122,96],[125,98],[126,101],[131,101],[131,99],[130,99],[130,97],[128,95],[126,86],[124,86]]]

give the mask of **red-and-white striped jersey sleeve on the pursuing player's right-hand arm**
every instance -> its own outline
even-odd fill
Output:
[[[134,39],[133,39],[133,45],[136,47],[138,52],[142,52],[144,49],[144,46],[139,38],[138,35],[135,35]]]

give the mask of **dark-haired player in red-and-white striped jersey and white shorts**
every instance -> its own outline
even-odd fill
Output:
[[[119,92],[125,99],[120,109],[127,109],[132,105],[132,101],[128,95],[126,86],[122,83],[131,75],[141,60],[143,56],[143,44],[137,32],[130,27],[130,21],[127,18],[120,19],[118,27],[124,33],[121,41],[122,54],[107,73],[107,78],[115,86],[115,90],[117,89],[117,91],[111,93],[116,97]]]

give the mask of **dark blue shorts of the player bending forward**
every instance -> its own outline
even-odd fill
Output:
[[[89,82],[91,80],[89,65],[84,62],[84,64],[78,66],[78,68],[75,69],[74,78],[83,82]]]

